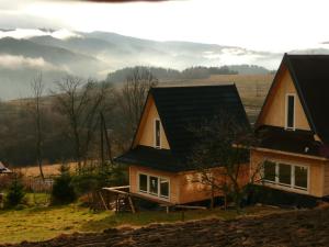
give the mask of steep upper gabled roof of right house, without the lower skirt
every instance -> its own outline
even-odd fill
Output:
[[[272,87],[276,82],[277,75],[283,66],[288,69],[308,123],[315,134],[325,144],[329,144],[329,55],[288,55],[285,54]],[[270,94],[269,92],[269,94]],[[264,111],[265,99],[260,116]]]

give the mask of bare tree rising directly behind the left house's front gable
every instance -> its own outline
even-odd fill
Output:
[[[135,133],[149,89],[158,79],[149,69],[136,67],[128,75],[120,91],[118,105],[125,121],[125,132],[132,137]]]

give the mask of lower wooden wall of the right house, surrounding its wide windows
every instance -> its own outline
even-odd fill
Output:
[[[251,150],[250,164],[251,164],[251,173],[257,170],[261,164],[265,160],[274,160],[274,161],[283,161],[291,165],[304,165],[309,166],[309,190],[308,194],[314,197],[325,197],[329,194],[329,164],[322,160],[290,156],[283,154],[274,154],[271,151],[260,151],[260,150]],[[325,170],[327,171],[327,176],[325,176]],[[258,177],[260,178],[260,176]],[[300,190],[294,190],[284,187],[275,187],[280,190],[293,191],[296,193],[305,193]]]

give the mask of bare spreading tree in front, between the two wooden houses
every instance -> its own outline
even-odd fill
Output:
[[[192,182],[202,183],[209,191],[211,207],[215,195],[224,195],[225,206],[230,195],[240,212],[247,189],[256,182],[260,171],[258,168],[251,172],[249,167],[249,147],[257,142],[252,132],[229,114],[222,113],[193,127],[193,134],[198,144],[193,147],[189,160],[200,176]]]

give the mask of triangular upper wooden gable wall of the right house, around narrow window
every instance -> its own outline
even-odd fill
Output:
[[[273,90],[269,94],[269,101],[264,105],[263,114],[259,121],[259,125],[265,124],[285,127],[286,93],[296,94],[295,127],[299,130],[310,130],[293,79],[290,75],[290,71],[284,67],[279,72]]]

